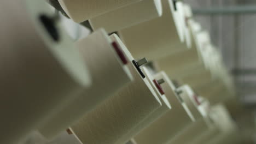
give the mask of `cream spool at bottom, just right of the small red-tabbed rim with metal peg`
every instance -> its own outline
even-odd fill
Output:
[[[154,77],[155,79],[164,79],[165,83],[162,83],[161,86],[168,100],[172,101],[172,109],[134,137],[138,144],[167,143],[173,136],[193,123],[193,117],[188,114],[188,107],[184,104],[183,99],[176,94],[174,85],[168,76],[161,71]]]

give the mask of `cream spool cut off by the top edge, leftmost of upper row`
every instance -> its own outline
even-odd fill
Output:
[[[61,7],[75,22],[83,22],[141,0],[59,0]]]

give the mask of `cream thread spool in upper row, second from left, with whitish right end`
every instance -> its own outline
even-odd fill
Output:
[[[152,20],[162,15],[161,0],[147,0],[127,5],[90,19],[93,29],[103,27],[108,33]]]

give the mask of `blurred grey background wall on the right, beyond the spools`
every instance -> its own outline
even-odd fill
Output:
[[[184,2],[191,5],[195,19],[202,27],[209,30],[212,43],[221,51],[224,63],[234,77],[237,97],[246,110],[234,116],[236,121],[243,129],[251,128],[252,131],[245,130],[245,135],[254,133],[255,122],[248,122],[245,117],[255,117],[256,108],[256,1]]]

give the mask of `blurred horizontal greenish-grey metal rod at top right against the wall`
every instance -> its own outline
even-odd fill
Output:
[[[256,5],[239,5],[229,7],[193,8],[194,15],[230,15],[230,14],[254,14]]]

